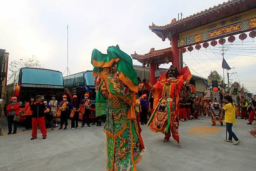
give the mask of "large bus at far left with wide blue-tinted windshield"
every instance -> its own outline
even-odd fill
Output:
[[[20,68],[7,81],[6,106],[13,96],[20,103],[20,122],[26,120],[25,104],[31,97],[43,95],[48,102],[54,95],[56,100],[61,100],[64,93],[63,75],[59,71],[44,68]]]

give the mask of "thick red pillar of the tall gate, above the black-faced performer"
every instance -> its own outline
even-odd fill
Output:
[[[172,35],[172,66],[180,70],[180,52],[178,48],[178,33]]]

